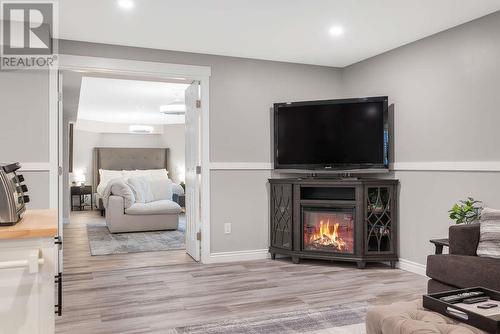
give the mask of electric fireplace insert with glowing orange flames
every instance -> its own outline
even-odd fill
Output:
[[[354,253],[354,208],[303,208],[303,250]]]

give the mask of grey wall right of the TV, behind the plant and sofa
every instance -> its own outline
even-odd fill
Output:
[[[344,96],[389,96],[396,163],[500,161],[500,12],[349,66],[342,77]],[[472,195],[500,207],[500,173],[395,176],[400,255],[410,261],[425,264],[428,240],[447,236],[457,200]]]

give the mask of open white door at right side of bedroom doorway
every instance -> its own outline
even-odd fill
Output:
[[[200,83],[186,89],[186,250],[200,261],[201,240]]]

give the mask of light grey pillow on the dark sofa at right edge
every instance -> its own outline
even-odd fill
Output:
[[[500,259],[500,210],[484,208],[477,255]]]

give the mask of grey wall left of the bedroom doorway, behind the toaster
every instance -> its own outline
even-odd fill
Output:
[[[0,71],[0,163],[49,162],[49,99],[46,71]],[[49,206],[47,171],[22,172],[28,208]]]

